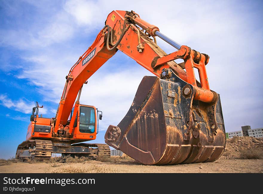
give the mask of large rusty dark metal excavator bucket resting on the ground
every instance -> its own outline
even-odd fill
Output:
[[[186,87],[189,94],[182,92]],[[146,165],[217,160],[226,144],[220,97],[203,103],[194,94],[174,73],[166,80],[143,77],[126,116],[108,127],[105,143]]]

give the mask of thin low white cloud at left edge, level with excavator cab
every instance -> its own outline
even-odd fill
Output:
[[[8,109],[13,109],[25,114],[32,112],[32,108],[35,107],[35,102],[28,102],[26,100],[11,100],[5,94],[0,94],[1,105],[7,107]],[[42,108],[41,113],[45,114],[47,111],[45,108]]]

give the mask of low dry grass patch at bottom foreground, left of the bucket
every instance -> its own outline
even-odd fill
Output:
[[[89,168],[83,167],[62,167],[48,171],[48,173],[118,173],[118,170],[107,168],[104,166],[91,166]]]

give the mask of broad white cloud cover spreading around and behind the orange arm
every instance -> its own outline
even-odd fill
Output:
[[[95,37],[112,10],[134,10],[142,19],[158,26],[165,35],[210,56],[207,74],[211,89],[221,94],[226,129],[242,125],[239,118],[246,119],[244,102],[250,100],[255,104],[258,102],[255,99],[262,98],[255,90],[251,91],[254,94],[252,100],[245,89],[251,87],[254,75],[262,70],[260,61],[256,60],[258,51],[262,51],[262,24],[252,22],[255,13],[246,10],[242,3],[233,6],[228,1],[159,2],[120,1],[116,4],[106,0],[66,1],[56,14],[48,16],[48,22],[41,28],[0,30],[0,43],[28,51],[21,54],[21,58],[32,64],[22,67],[18,77],[38,86],[37,91],[45,100],[58,103],[65,75],[84,50],[76,45],[87,42],[83,39],[74,43],[70,41],[78,36],[83,37],[83,34],[88,39]],[[40,8],[45,9],[38,6]],[[36,26],[36,23],[32,25]],[[65,47],[58,47],[61,43]],[[160,39],[158,45],[167,53],[174,51]],[[88,48],[90,45],[85,46]],[[249,60],[253,60],[253,68],[248,68]],[[103,117],[102,126],[110,122],[118,124],[129,109],[143,75],[150,74],[129,58],[127,63],[130,64],[127,69],[118,68],[112,74],[109,69],[113,64],[108,62],[107,67],[101,67],[83,88],[81,103],[94,105],[103,110],[104,115],[108,115]],[[260,88],[257,90],[262,91]],[[231,106],[233,102],[239,106],[238,112],[242,115],[235,117],[235,122],[231,119],[236,115],[236,110]],[[13,107],[12,103],[10,100],[7,106]],[[261,104],[258,106],[262,107]],[[253,115],[259,113],[262,111],[250,111]]]

